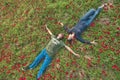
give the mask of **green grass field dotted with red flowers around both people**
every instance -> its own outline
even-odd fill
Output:
[[[0,0],[0,80],[36,80],[41,66],[22,71],[47,45],[50,35],[67,33],[59,25],[73,27],[89,9],[107,0]],[[98,45],[75,41],[58,52],[41,80],[120,80],[120,1],[105,7],[82,35]],[[84,56],[88,57],[85,59]]]

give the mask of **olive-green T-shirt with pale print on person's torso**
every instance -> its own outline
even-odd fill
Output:
[[[63,46],[64,43],[62,41],[59,41],[55,37],[53,37],[46,46],[46,50],[50,56],[54,56],[55,53],[57,53],[57,51]]]

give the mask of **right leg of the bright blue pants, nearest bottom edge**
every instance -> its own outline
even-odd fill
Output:
[[[42,74],[45,72],[46,68],[49,66],[51,61],[52,61],[52,58],[46,53],[45,60],[37,74],[37,79],[39,79],[42,76]]]

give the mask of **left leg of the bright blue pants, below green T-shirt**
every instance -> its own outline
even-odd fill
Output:
[[[45,49],[43,49],[42,52],[35,58],[33,63],[29,65],[30,69],[35,68],[39,64],[39,62],[45,57],[44,52],[45,52]]]

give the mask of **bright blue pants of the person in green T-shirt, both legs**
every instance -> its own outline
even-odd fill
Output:
[[[38,74],[37,74],[37,79],[39,79],[39,78],[42,76],[42,74],[44,73],[44,71],[46,70],[46,68],[47,68],[47,67],[49,66],[49,64],[51,63],[52,58],[48,55],[46,49],[43,49],[43,50],[41,51],[41,53],[35,58],[35,60],[33,61],[33,63],[29,65],[29,68],[30,68],[30,69],[33,69],[33,68],[35,68],[35,67],[40,63],[40,61],[41,61],[42,59],[44,59],[44,58],[45,58],[45,60],[44,60],[42,66],[41,66],[41,68],[40,68],[40,70],[39,70],[39,72],[38,72]]]

